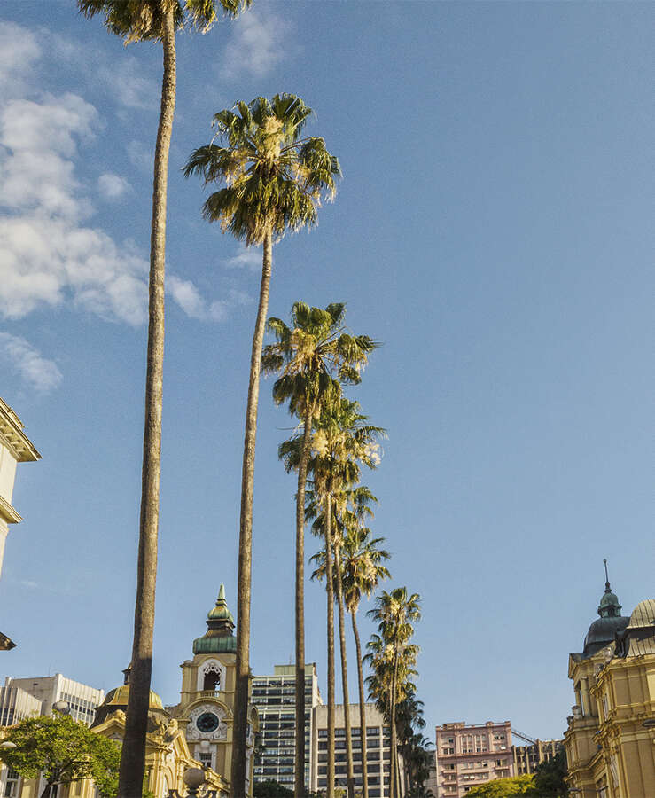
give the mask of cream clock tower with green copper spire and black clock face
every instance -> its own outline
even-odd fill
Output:
[[[193,659],[182,668],[180,703],[173,710],[191,751],[204,767],[230,781],[232,724],[236,681],[237,638],[234,618],[221,585],[216,604],[207,614],[207,632],[193,641]],[[248,707],[246,796],[253,792],[254,734],[257,710]]]

